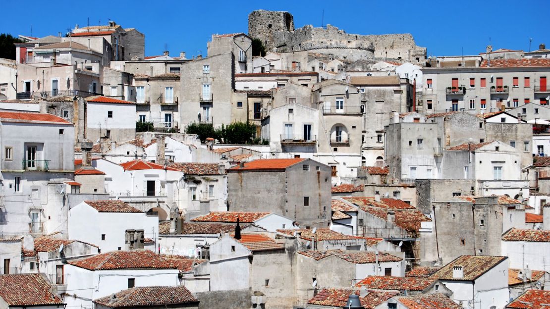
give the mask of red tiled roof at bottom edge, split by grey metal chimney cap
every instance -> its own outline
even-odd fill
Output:
[[[359,290],[355,291],[356,295],[359,295]],[[360,297],[361,306],[365,309],[374,309],[376,306],[382,304],[399,294],[399,291],[368,291],[365,297]],[[308,304],[318,306],[331,306],[331,307],[345,307],[346,302],[351,295],[350,289],[324,289],[321,290],[312,299],[307,301]]]

